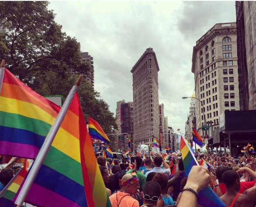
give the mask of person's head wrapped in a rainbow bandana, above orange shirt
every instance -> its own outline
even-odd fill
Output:
[[[134,173],[126,173],[121,179],[121,191],[125,191],[132,195],[137,193],[139,189],[138,176]]]

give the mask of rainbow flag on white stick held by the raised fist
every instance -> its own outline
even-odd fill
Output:
[[[194,153],[191,152],[191,147],[180,132],[180,149],[182,153],[183,165],[185,169],[186,176],[188,176],[192,166],[199,165]],[[203,207],[225,207],[225,204],[220,200],[216,193],[211,189],[210,186],[205,187],[198,193],[199,201],[198,203],[201,204]]]

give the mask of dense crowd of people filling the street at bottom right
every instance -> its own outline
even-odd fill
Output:
[[[169,156],[166,160],[161,153],[151,153],[147,159],[135,156],[133,163],[123,159],[112,169],[105,167],[109,179],[104,183],[112,206],[198,207],[199,191],[211,186],[226,207],[256,207],[255,155],[196,155],[199,165],[188,176],[181,154]],[[97,162],[108,166],[104,156],[97,157]]]

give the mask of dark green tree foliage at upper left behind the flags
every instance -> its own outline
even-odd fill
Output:
[[[0,1],[0,59],[42,96],[66,97],[77,74],[88,74],[90,65],[82,63],[76,39],[61,31],[48,4]],[[106,133],[117,128],[109,106],[85,79],[79,97],[84,114],[98,121]]]

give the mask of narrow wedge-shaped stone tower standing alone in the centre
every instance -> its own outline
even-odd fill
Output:
[[[147,48],[131,69],[135,146],[139,143],[150,145],[153,135],[159,139],[158,72],[156,53],[152,48]]]

